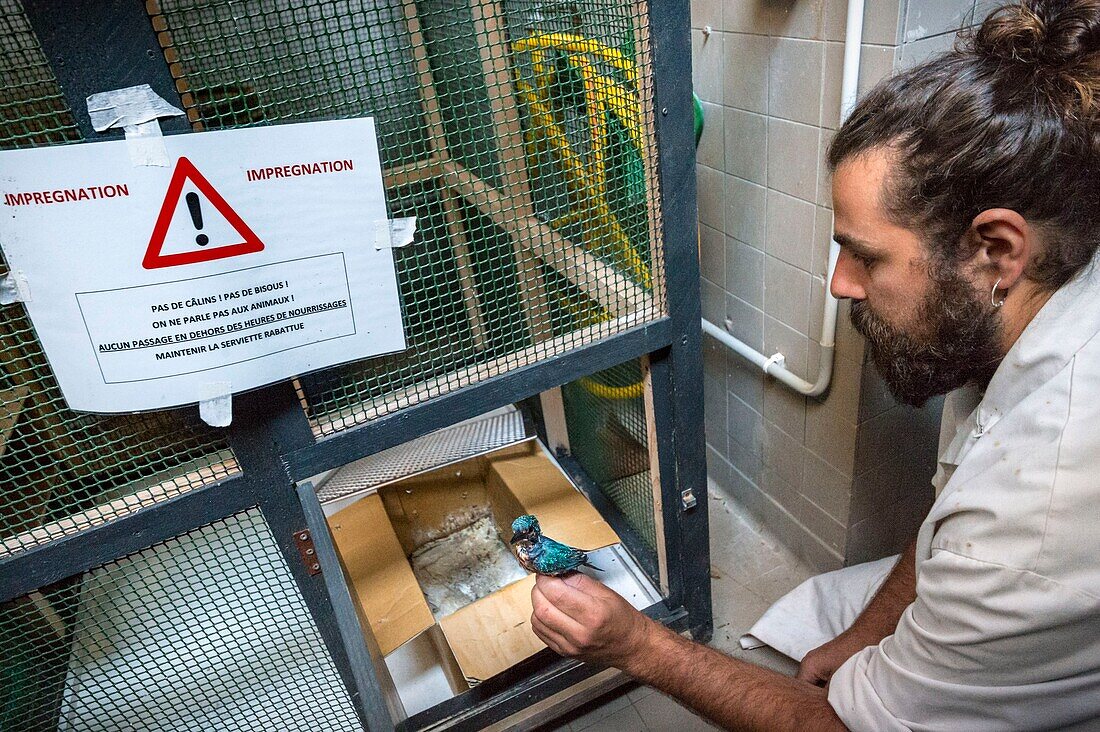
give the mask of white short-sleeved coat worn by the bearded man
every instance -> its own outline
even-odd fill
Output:
[[[1100,730],[1098,334],[1090,266],[948,396],[917,599],[829,685],[850,729]]]

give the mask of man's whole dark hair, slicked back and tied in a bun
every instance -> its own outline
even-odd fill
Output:
[[[893,155],[880,200],[934,261],[968,261],[975,217],[1008,208],[1044,232],[1026,275],[1047,292],[1100,262],[1100,0],[1015,0],[883,79],[829,166],[876,149]]]

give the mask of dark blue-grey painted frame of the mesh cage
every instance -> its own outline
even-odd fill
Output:
[[[497,4],[497,0],[472,0],[471,4],[484,8]],[[660,62],[649,66],[652,97],[651,107],[645,112],[656,136],[660,182],[657,210],[661,218],[657,227],[652,220],[656,216],[650,217],[650,242],[663,251],[664,315],[649,320],[638,318],[622,332],[591,339],[564,352],[554,353],[552,343],[536,342],[530,349],[530,362],[519,368],[320,439],[301,409],[292,382],[239,394],[234,397],[233,424],[227,429],[239,474],[0,558],[0,602],[33,593],[198,526],[258,507],[364,728],[393,729],[395,720],[386,706],[386,679],[377,673],[377,648],[372,647],[370,633],[362,632],[346,582],[339,573],[331,536],[323,529],[323,514],[311,488],[302,481],[461,419],[537,395],[543,395],[543,420],[539,425],[542,437],[548,445],[560,444],[561,420],[556,409],[561,397],[557,390],[626,360],[641,359],[651,479],[657,499],[659,589],[666,598],[646,612],[676,631],[690,632],[696,640],[708,640],[713,625],[702,425],[694,139],[691,85],[686,83],[691,78],[690,9],[688,0],[638,0],[638,4],[648,19],[648,43],[641,44],[642,53]],[[24,0],[23,6],[86,139],[121,136],[119,132],[91,131],[84,102],[95,91],[147,83],[162,97],[176,102],[180,94],[186,94],[177,85],[169,63],[165,63],[170,59],[153,52],[161,46],[150,23],[155,0],[148,4],[141,0],[69,3]],[[81,23],[73,23],[74,18],[80,18]],[[406,20],[414,32],[415,13]],[[111,39],[112,43],[103,44],[102,39]],[[492,73],[493,59],[483,56],[483,61],[486,72]],[[431,95],[433,91],[428,96]],[[430,118],[427,102],[425,112]],[[506,117],[499,120],[505,132],[510,123]],[[494,120],[494,128],[496,124]],[[163,120],[162,129],[173,134],[189,132],[191,125],[186,118],[175,118]],[[476,176],[471,179],[461,170],[448,168],[446,161],[437,160],[435,164],[465,196],[486,195]],[[504,167],[508,170],[507,165]],[[529,254],[520,250],[517,245],[516,255],[522,264]],[[622,289],[616,292],[623,296]],[[471,306],[476,303],[468,303]],[[629,533],[617,510],[606,500],[601,503],[598,491],[592,490],[575,460],[565,457],[561,462],[582,490],[587,489],[585,493],[613,527],[620,534]],[[298,553],[295,537],[304,529],[311,532],[319,560],[324,565],[319,573],[311,572]],[[605,669],[557,658],[544,651],[470,691],[397,721],[396,729],[480,729],[521,710],[544,706],[570,690],[587,688],[591,696],[591,689],[602,688],[593,684],[607,678]]]

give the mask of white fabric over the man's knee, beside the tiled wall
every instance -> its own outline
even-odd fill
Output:
[[[741,636],[741,647],[768,645],[802,660],[856,622],[897,562],[894,555],[811,577],[768,608]]]

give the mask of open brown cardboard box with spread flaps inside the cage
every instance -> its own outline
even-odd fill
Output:
[[[522,513],[537,515],[548,536],[584,549],[619,542],[534,441],[385,485],[329,516],[353,594],[384,655],[437,626],[409,555],[472,524],[486,505],[504,542]],[[546,647],[530,629],[534,582],[527,575],[439,619],[469,684]]]

